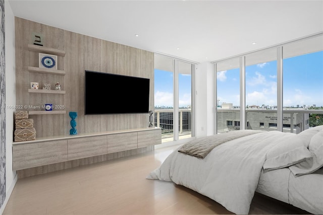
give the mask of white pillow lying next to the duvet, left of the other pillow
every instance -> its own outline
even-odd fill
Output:
[[[277,141],[278,144],[266,155],[263,164],[264,170],[289,167],[312,157],[307,149],[309,139],[305,136],[300,138],[298,134],[285,133],[283,138],[279,138]]]

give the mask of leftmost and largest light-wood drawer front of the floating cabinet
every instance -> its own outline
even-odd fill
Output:
[[[14,170],[67,161],[67,140],[16,145],[12,150]]]

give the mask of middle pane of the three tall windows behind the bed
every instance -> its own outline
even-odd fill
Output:
[[[277,48],[246,55],[245,65],[246,128],[277,130]]]

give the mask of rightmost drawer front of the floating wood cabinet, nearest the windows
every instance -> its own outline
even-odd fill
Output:
[[[161,129],[138,131],[138,148],[161,144]]]

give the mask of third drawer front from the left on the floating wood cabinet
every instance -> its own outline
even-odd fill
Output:
[[[107,135],[107,153],[137,149],[138,132]]]

